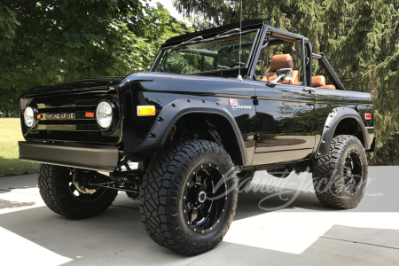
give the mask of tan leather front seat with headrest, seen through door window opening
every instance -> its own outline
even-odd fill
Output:
[[[276,71],[281,68],[293,69],[293,58],[289,54],[279,54],[271,58],[270,72],[262,77],[262,82],[272,82],[277,79],[278,74]],[[290,81],[283,81],[283,84],[299,85],[299,71],[293,70],[293,79]]]

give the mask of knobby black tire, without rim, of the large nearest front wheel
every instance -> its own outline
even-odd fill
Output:
[[[210,243],[198,245],[182,232],[173,201],[177,200],[178,188],[190,163],[205,153],[221,154],[230,162],[231,168],[234,167],[230,155],[213,142],[205,140],[172,142],[164,146],[150,162],[140,191],[140,213],[145,231],[160,246],[182,254],[200,254],[215,247],[229,230],[236,211],[237,197],[228,223]],[[234,171],[233,173],[235,175]]]

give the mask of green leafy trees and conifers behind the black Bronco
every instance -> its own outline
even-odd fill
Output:
[[[2,0],[0,116],[18,116],[36,85],[147,70],[166,39],[237,22],[240,3],[175,0],[189,27],[139,0]],[[243,20],[308,36],[347,90],[372,93],[379,165],[399,164],[398,10],[399,0],[242,0]]]

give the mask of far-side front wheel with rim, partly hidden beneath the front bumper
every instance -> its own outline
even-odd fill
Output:
[[[104,212],[118,192],[111,189],[94,189],[87,185],[100,183],[101,175],[95,171],[69,169],[42,164],[38,178],[39,192],[47,207],[74,219],[84,219]]]

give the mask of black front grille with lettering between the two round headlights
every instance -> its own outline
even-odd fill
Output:
[[[29,106],[35,106],[42,118],[37,120],[35,130],[28,130],[26,138],[52,141],[95,142],[115,144],[119,141],[119,123],[111,132],[103,131],[94,117],[86,113],[96,113],[98,103],[113,98],[110,94],[86,96],[58,96],[33,99]],[[118,117],[117,113],[114,115]]]

